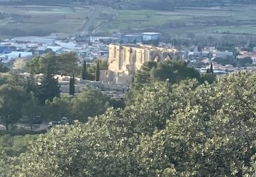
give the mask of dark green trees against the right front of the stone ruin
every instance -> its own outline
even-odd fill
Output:
[[[165,61],[157,63],[147,61],[143,63],[140,70],[134,75],[134,83],[131,91],[126,94],[126,104],[134,101],[136,95],[141,94],[145,84],[152,84],[159,81],[167,81],[170,84],[178,84],[182,80],[196,79],[201,84],[208,82],[212,84],[216,80],[215,74],[200,74],[195,68],[188,66],[185,61]]]

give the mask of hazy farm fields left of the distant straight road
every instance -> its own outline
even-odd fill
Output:
[[[86,23],[90,7],[0,6],[0,37],[73,33]]]

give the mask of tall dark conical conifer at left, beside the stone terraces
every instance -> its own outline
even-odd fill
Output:
[[[48,63],[46,74],[43,76],[41,84],[38,87],[38,100],[41,104],[44,104],[46,99],[53,101],[54,97],[59,97],[60,92],[58,79],[54,78],[54,75],[51,73],[51,66]]]

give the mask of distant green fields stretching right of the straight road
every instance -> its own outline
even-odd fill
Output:
[[[117,10],[115,20],[100,31],[160,31],[184,36],[193,33],[256,34],[256,5],[182,7],[173,11]]]

